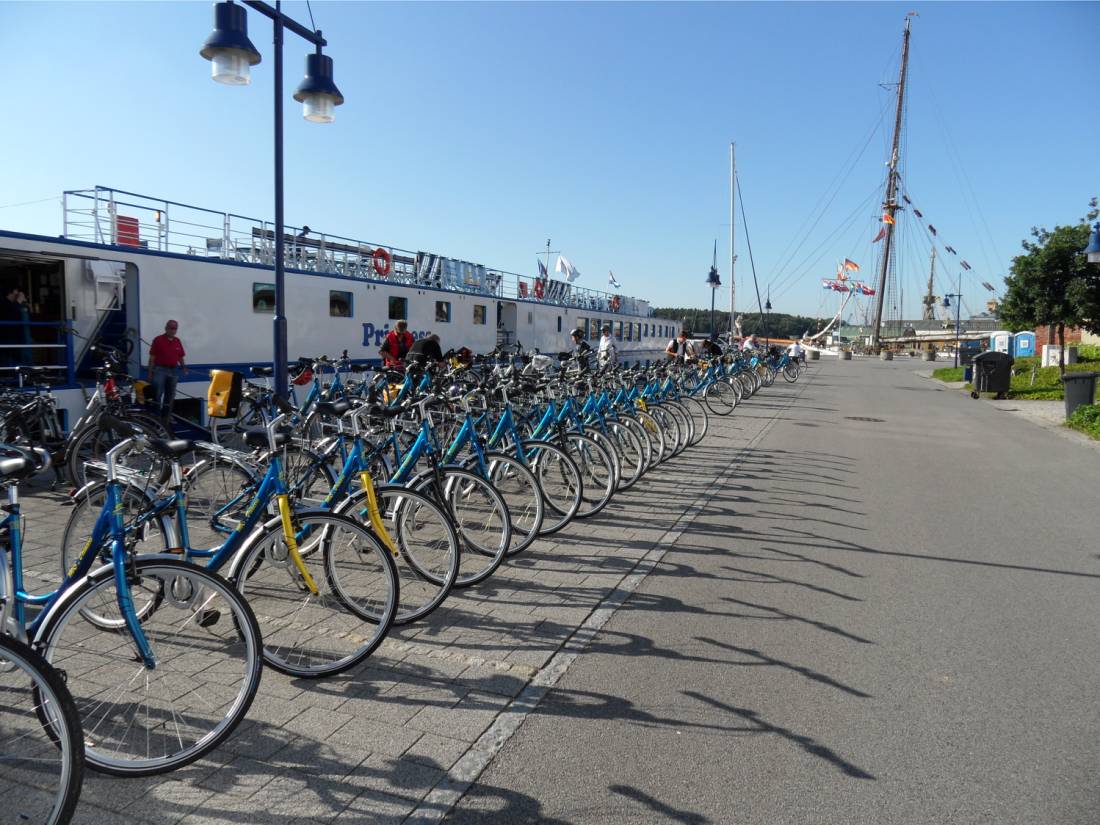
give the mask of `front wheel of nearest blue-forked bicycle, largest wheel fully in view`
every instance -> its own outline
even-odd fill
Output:
[[[145,557],[128,562],[127,578],[135,601],[156,601],[141,622],[154,668],[136,658],[121,626],[113,568],[63,597],[35,641],[73,693],[88,765],[142,777],[188,765],[226,740],[260,686],[262,642],[249,605],[208,570]],[[86,613],[110,616],[114,626]]]

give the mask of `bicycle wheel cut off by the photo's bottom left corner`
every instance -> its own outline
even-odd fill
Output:
[[[0,765],[6,822],[64,825],[84,781],[84,730],[57,671],[0,636]]]

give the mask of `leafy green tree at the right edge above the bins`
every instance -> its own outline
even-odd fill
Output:
[[[1001,320],[1012,331],[1054,327],[1063,374],[1066,327],[1100,333],[1100,272],[1089,266],[1082,253],[1089,241],[1089,222],[1098,215],[1100,209],[1092,198],[1088,213],[1076,226],[1053,230],[1033,227],[1034,240],[1023,241],[1024,254],[1012,260],[1011,274],[1004,279]]]

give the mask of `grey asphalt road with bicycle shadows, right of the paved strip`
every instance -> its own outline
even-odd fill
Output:
[[[1100,451],[916,369],[738,409],[751,449],[447,822],[1100,822]]]

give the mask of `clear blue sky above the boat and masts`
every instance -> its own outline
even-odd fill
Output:
[[[305,2],[284,9],[308,23]],[[879,84],[910,10],[905,187],[974,266],[980,309],[1032,226],[1100,194],[1100,3],[318,0],[348,102],[332,125],[301,119],[307,48],[288,37],[287,221],[521,274],[550,238],[581,285],[614,270],[626,294],[703,307],[715,239],[728,284],[736,141],[761,289],[778,311],[832,312],[837,261],[873,277]],[[208,2],[0,2],[0,228],[58,234],[62,190],[97,184],[273,217],[271,28],[249,12],[264,62],[230,88],[198,55],[211,26]],[[740,220],[739,310],[756,306]],[[901,224],[913,317],[928,241]]]

